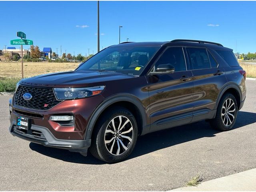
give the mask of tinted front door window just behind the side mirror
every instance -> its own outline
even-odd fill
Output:
[[[160,64],[171,64],[174,66],[174,71],[185,71],[186,62],[181,47],[171,47],[168,48],[164,54],[156,62],[155,67]]]

